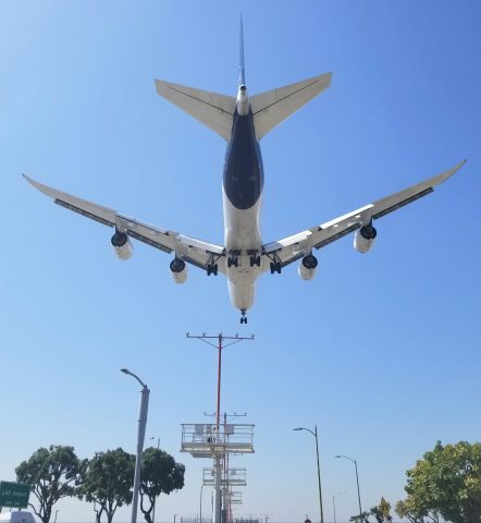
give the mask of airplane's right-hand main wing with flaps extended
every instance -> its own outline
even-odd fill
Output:
[[[372,204],[365,205],[334,220],[263,245],[262,254],[264,263],[262,264],[262,270],[269,270],[269,259],[280,263],[281,267],[285,267],[304,257],[312,248],[324,247],[340,238],[360,229],[362,226],[367,226],[371,220],[382,218],[394,210],[400,209],[405,205],[422,198],[432,193],[436,185],[452,177],[465,163],[466,160],[462,160],[453,169],[430,178],[417,185],[412,185],[385,198],[378,199]]]

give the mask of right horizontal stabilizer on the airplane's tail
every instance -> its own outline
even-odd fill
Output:
[[[250,98],[256,137],[260,139],[279,123],[331,85],[332,73],[267,90]]]

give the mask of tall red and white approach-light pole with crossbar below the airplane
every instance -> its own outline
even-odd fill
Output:
[[[249,337],[244,336],[225,336],[222,332],[217,336],[209,336],[206,332],[201,335],[190,335],[186,333],[186,337],[194,340],[200,340],[208,345],[213,346],[218,350],[218,384],[217,384],[217,409],[215,409],[215,439],[219,439],[220,427],[221,427],[221,378],[222,378],[222,351],[227,346],[231,346],[240,341],[252,341],[254,335]],[[213,341],[215,340],[215,341]],[[226,342],[226,343],[225,343]],[[213,523],[222,523],[222,494],[221,494],[221,483],[222,483],[222,460],[224,459],[225,452],[222,450],[217,451],[213,457],[213,492],[214,492],[214,510],[213,510]]]

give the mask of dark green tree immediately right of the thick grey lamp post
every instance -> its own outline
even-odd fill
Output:
[[[185,466],[163,450],[150,447],[143,453],[140,470],[140,510],[146,521],[152,523],[157,497],[184,486]]]

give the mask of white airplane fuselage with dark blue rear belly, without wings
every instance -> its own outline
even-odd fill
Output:
[[[255,282],[261,271],[262,186],[262,156],[247,90],[240,85],[225,153],[222,195],[229,295],[234,307],[243,313],[252,306]]]

